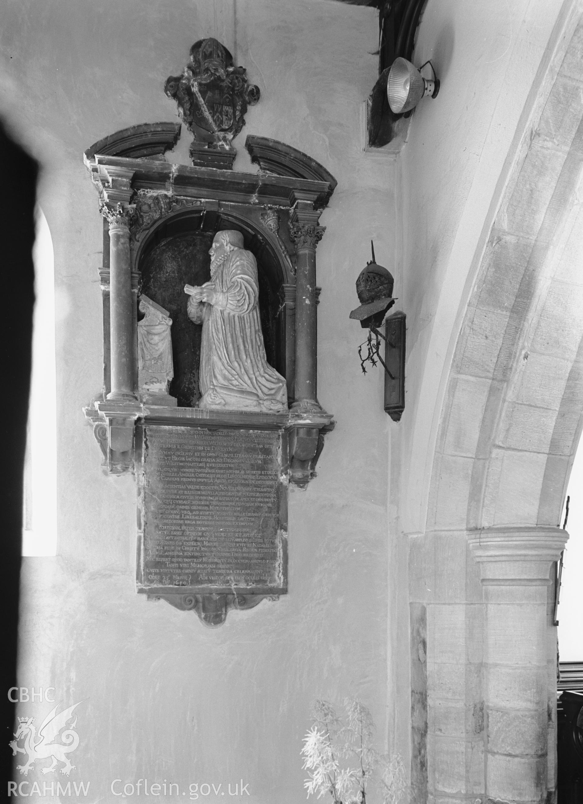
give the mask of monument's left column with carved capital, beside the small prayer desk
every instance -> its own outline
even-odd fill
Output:
[[[136,400],[132,269],[129,222],[133,208],[118,203],[101,211],[109,223],[111,390],[108,400]]]

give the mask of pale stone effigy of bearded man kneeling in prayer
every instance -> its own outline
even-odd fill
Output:
[[[210,282],[185,287],[189,318],[202,323],[198,407],[287,410],[286,381],[265,356],[255,256],[231,229],[214,236],[209,253]]]

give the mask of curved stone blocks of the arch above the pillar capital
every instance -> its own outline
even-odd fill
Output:
[[[491,229],[442,408],[428,527],[555,525],[561,514],[583,421],[583,105],[567,82],[557,76]],[[552,140],[561,100],[570,125]]]

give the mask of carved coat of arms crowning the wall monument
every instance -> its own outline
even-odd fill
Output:
[[[164,91],[176,100],[186,128],[199,144],[194,152],[200,144],[234,152],[230,142],[245,125],[247,106],[259,100],[259,87],[247,84],[247,70],[234,67],[233,56],[217,39],[195,42],[181,76],[169,76]]]

